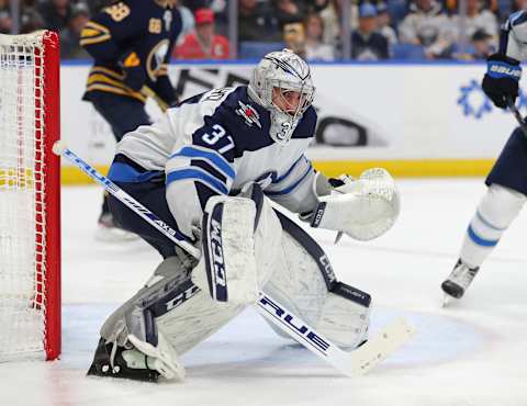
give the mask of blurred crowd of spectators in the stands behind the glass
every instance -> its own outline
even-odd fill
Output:
[[[144,0],[147,1],[147,0]],[[175,59],[257,58],[283,46],[309,60],[484,59],[495,52],[500,24],[527,0],[237,0],[237,48],[228,42],[235,0],[181,0],[183,32]],[[112,0],[20,0],[21,33],[60,33],[63,58],[89,58],[79,35]],[[343,15],[349,15],[344,26]],[[10,0],[0,0],[0,33],[11,33]],[[349,35],[349,41],[343,41]],[[348,43],[348,55],[346,54]]]

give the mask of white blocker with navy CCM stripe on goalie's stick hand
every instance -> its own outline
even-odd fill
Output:
[[[203,256],[192,281],[217,302],[250,304],[272,273],[281,226],[258,184],[213,196],[203,214]]]

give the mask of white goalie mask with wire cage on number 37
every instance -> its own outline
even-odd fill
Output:
[[[292,50],[283,49],[267,54],[260,60],[249,80],[248,93],[270,111],[271,138],[285,145],[313,102],[315,88],[309,65]]]

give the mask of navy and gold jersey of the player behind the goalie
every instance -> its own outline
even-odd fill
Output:
[[[181,32],[177,8],[156,0],[122,0],[82,30],[80,45],[94,58],[85,99],[94,91],[146,101],[162,110],[176,101],[167,67]]]

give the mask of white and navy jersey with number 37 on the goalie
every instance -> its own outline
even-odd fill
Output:
[[[291,140],[280,145],[269,135],[269,111],[248,97],[246,86],[214,89],[169,109],[161,121],[127,133],[116,154],[132,165],[114,161],[109,178],[144,182],[162,174],[170,212],[180,232],[191,238],[210,196],[235,195],[253,182],[290,211],[309,212],[317,199],[315,170],[304,151],[316,120],[310,106]],[[135,165],[146,171],[137,171]]]

